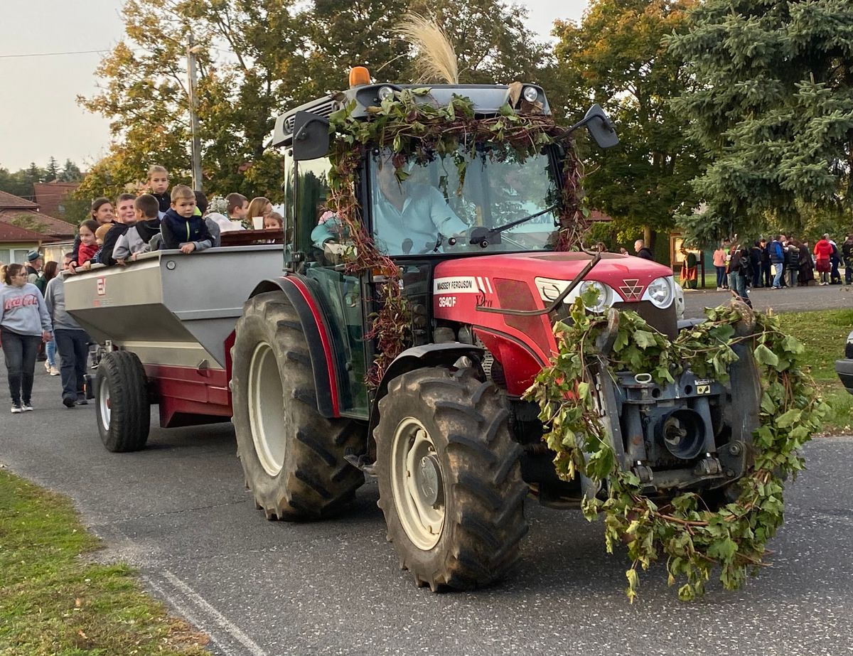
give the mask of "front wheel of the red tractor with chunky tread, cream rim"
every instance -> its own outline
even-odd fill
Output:
[[[527,532],[528,488],[495,386],[420,369],[392,380],[379,409],[379,505],[401,568],[432,591],[502,578]]]

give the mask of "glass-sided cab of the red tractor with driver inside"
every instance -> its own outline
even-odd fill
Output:
[[[273,137],[273,145],[283,147],[285,155],[285,269],[304,276],[321,299],[338,345],[332,357],[339,380],[345,383],[339,386],[339,411],[359,419],[370,413],[371,398],[364,379],[376,348],[364,339],[365,327],[378,309],[375,286],[385,281],[372,271],[352,275],[346,270],[345,254],[353,247],[352,235],[327,206],[331,171],[328,117],[349,107],[352,117],[370,120],[370,108],[379,106],[384,98],[415,89],[414,85],[366,82],[365,78],[351,79],[353,84],[344,93],[281,115]],[[479,118],[496,116],[507,107],[519,109],[523,104],[550,113],[544,91],[534,84],[521,85],[516,99],[507,85],[440,84],[429,87],[418,96],[418,102],[446,106],[456,96],[470,99]],[[601,109],[591,111],[584,121],[595,124],[594,135],[615,142]],[[554,252],[559,241],[562,158],[556,145],[519,158],[513,148],[489,141],[466,143],[452,152],[437,151],[421,160],[392,154],[389,148],[364,149],[356,190],[361,219],[380,253],[392,257],[401,268],[403,294],[412,317],[411,346],[446,338],[446,330],[439,331],[438,338],[434,334],[438,297],[433,282],[442,263]],[[484,262],[484,266],[492,265]],[[529,285],[533,285],[532,277]],[[540,345],[540,349],[548,350],[548,345]]]

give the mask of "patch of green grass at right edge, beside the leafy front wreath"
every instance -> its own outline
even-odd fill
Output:
[[[853,432],[853,395],[838,380],[835,361],[844,357],[844,342],[853,330],[853,309],[786,312],[779,315],[779,321],[786,333],[805,345],[803,363],[831,408],[824,422],[825,434],[850,435]]]

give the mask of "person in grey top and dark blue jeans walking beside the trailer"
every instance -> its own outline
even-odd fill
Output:
[[[73,261],[73,253],[67,253],[62,262],[62,271],[48,282],[44,301],[53,321],[56,348],[61,360],[62,404],[73,408],[74,404],[85,405],[84,376],[89,357],[89,334],[65,311],[65,271]]]

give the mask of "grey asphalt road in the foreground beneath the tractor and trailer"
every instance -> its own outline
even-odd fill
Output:
[[[106,541],[104,557],[138,566],[154,595],[212,637],[214,653],[853,650],[853,438],[807,445],[809,470],[791,486],[786,525],[770,545],[774,566],[741,591],[711,585],[682,604],[657,566],[630,606],[624,553],[606,555],[601,525],[529,502],[514,576],[433,595],[398,570],[376,485],[342,519],[268,522],[243,490],[229,425],[155,428],[147,450],[110,454],[93,406],[62,408],[59,381],[37,375],[37,410],[0,420],[0,462],[71,496]]]

